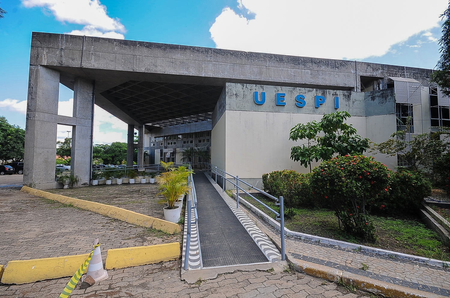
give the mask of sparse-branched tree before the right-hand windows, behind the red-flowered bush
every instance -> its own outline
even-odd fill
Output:
[[[411,122],[409,118],[406,119],[406,123]],[[449,143],[440,140],[439,137],[441,134],[448,133],[448,129],[442,128],[437,132],[422,133],[412,139],[407,138],[409,131],[410,126],[406,125],[404,130],[395,131],[391,139],[379,144],[371,143],[371,153],[379,152],[388,156],[401,154],[401,157],[410,164],[411,170],[432,174],[434,161],[449,149]]]

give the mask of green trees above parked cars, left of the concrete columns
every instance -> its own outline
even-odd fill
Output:
[[[25,130],[0,116],[0,162],[23,162]]]

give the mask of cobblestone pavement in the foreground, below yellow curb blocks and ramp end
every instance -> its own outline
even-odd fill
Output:
[[[368,295],[350,292],[322,279],[298,272],[234,272],[191,284],[180,280],[180,262],[168,262],[108,271],[109,279],[87,289],[77,286],[71,298],[358,298]],[[0,296],[8,298],[57,297],[68,278],[25,285],[0,285]]]

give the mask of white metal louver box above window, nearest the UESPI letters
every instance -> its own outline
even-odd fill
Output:
[[[421,105],[422,84],[415,79],[389,77],[394,81],[395,102],[401,104]]]

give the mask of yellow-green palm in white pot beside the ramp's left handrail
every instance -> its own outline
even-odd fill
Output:
[[[186,167],[169,168],[169,171],[162,173],[157,177],[157,183],[161,184],[159,194],[162,194],[167,200],[167,206],[164,207],[164,219],[172,223],[180,220],[180,210],[183,201],[179,198],[184,193],[189,192],[188,177],[191,174]],[[180,206],[181,202],[181,206]],[[178,204],[177,204],[178,203]]]

